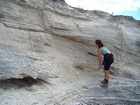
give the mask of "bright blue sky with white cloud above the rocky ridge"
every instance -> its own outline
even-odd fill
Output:
[[[140,0],[65,0],[73,7],[101,10],[113,15],[133,16],[140,20]]]

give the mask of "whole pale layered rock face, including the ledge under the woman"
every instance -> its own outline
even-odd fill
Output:
[[[0,104],[139,104],[139,33],[133,17],[81,13],[64,0],[0,0],[0,80],[49,83],[1,88]],[[108,89],[99,86],[104,77],[97,70],[96,39],[115,57]]]

